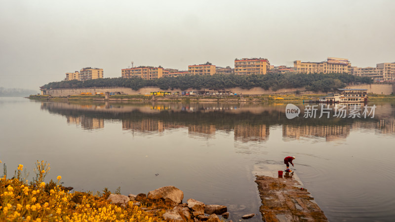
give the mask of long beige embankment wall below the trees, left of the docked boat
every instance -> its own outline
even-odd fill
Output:
[[[239,87],[235,88],[228,88],[227,91],[231,91],[233,93],[241,93],[243,95],[261,95],[261,94],[277,94],[277,93],[294,93],[296,91],[305,91],[306,88],[290,88],[290,89],[279,89],[277,91],[273,91],[271,89],[265,90],[260,87],[254,87],[252,89],[242,89]],[[181,92],[181,91],[198,91],[197,89],[173,89],[173,90],[162,90],[158,87],[144,87],[139,90],[133,90],[131,88],[124,88],[124,87],[115,87],[115,88],[68,88],[68,89],[47,89],[44,94],[48,94],[51,96],[71,96],[71,95],[79,95],[82,92],[90,92],[92,95],[96,94],[96,92],[121,92],[122,94],[129,94],[129,95],[137,95],[141,94],[144,95],[145,93],[149,92],[156,92],[156,91],[171,91],[171,92]]]

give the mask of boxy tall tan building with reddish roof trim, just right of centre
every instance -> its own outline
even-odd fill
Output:
[[[235,59],[235,74],[251,75],[251,74],[267,74],[270,70],[270,63],[267,59]]]

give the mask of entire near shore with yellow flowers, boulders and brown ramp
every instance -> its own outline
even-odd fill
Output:
[[[36,179],[30,183],[22,177],[23,169],[19,164],[11,179],[6,179],[5,170],[0,179],[0,221],[220,222],[255,217],[246,214],[238,218],[230,215],[224,205],[206,205],[192,198],[183,203],[184,192],[174,186],[128,196],[120,194],[119,187],[114,193],[107,188],[95,194],[69,192],[73,187],[63,186],[61,176],[56,181],[44,182],[50,170],[46,162],[36,162]],[[327,221],[311,202],[310,193],[297,187],[300,184],[292,179],[292,174],[286,173],[284,178],[257,176],[255,182],[262,199],[260,212],[264,221]]]

